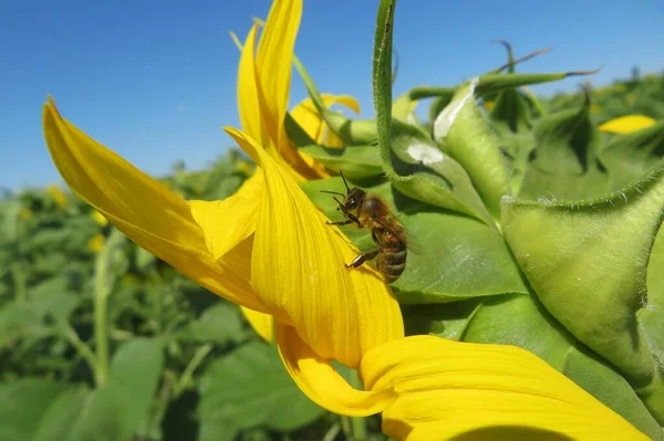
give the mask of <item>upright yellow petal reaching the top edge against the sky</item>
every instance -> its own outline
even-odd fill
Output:
[[[272,2],[256,56],[259,99],[263,107],[261,114],[270,138],[280,150],[288,146],[283,119],[288,111],[293,51],[301,17],[302,0]],[[264,146],[264,143],[261,144]]]

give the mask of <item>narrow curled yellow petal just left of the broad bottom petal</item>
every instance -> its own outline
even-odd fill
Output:
[[[394,401],[392,390],[364,391],[351,387],[330,363],[321,358],[290,326],[277,325],[277,347],[286,369],[313,402],[349,417],[378,413]]]

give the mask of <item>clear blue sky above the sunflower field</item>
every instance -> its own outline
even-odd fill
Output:
[[[506,3],[507,4],[507,3]],[[373,115],[371,55],[377,0],[304,0],[297,52],[322,92],[351,94]],[[0,6],[0,186],[60,182],[41,132],[51,94],[60,112],[143,170],[160,175],[184,159],[204,167],[232,145],[239,126],[239,53],[251,17],[269,0],[37,1]],[[604,66],[594,84],[664,69],[664,2],[402,0],[395,93],[453,85],[505,62],[494,39],[517,55],[554,46],[522,72]],[[574,90],[579,78],[536,88]],[[304,97],[293,76],[291,104]]]

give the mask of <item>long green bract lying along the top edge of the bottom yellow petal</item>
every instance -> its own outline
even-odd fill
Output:
[[[515,345],[538,355],[654,440],[660,426],[627,381],[584,349],[530,295],[508,294],[446,305],[404,307],[407,334]]]

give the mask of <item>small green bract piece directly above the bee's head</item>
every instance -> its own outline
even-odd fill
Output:
[[[363,179],[383,175],[376,146],[353,147],[301,147],[300,151],[311,156],[330,170],[343,170],[352,179]]]

